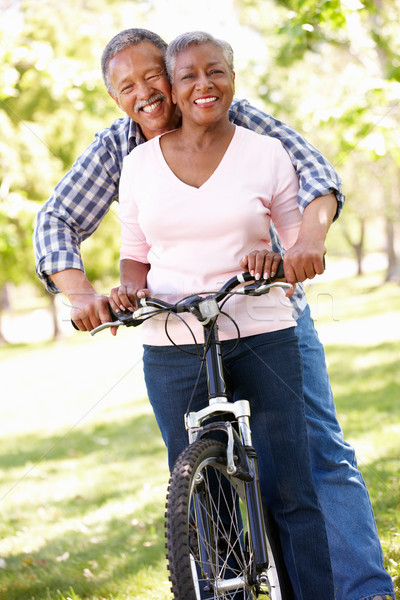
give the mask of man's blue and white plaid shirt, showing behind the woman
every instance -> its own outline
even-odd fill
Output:
[[[301,212],[314,198],[334,192],[339,214],[344,202],[342,182],[332,165],[299,133],[254,108],[247,100],[234,100],[229,118],[236,125],[280,140],[300,180],[298,205]],[[118,200],[124,157],[145,141],[140,127],[128,116],[117,119],[96,134],[94,142],[77,159],[39,211],[33,236],[36,272],[50,292],[59,290],[49,274],[65,269],[84,270],[81,242],[92,235],[111,204]],[[273,250],[282,254],[284,249],[273,226],[270,234]],[[297,317],[307,303],[301,284],[297,286],[292,302]]]

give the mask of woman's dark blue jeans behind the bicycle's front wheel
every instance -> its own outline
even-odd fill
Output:
[[[233,343],[222,342],[225,355]],[[192,346],[185,349],[194,350]],[[144,373],[172,467],[188,438],[186,412],[200,362],[173,346],[145,346]],[[325,522],[314,488],[305,421],[302,365],[294,328],[243,338],[224,360],[232,399],[251,408],[261,494],[278,524],[298,600],[333,600]],[[205,374],[191,410],[207,405]]]

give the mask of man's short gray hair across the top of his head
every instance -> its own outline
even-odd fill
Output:
[[[101,72],[107,91],[113,94],[113,96],[115,96],[115,91],[108,75],[109,62],[116,54],[118,54],[118,52],[121,52],[121,50],[140,44],[140,42],[151,42],[159,48],[163,54],[165,54],[167,49],[167,43],[164,42],[159,35],[148,29],[125,29],[113,37],[104,48],[101,56]]]

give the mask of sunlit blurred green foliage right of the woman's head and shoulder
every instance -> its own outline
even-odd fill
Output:
[[[268,45],[255,83],[267,110],[293,124],[333,163],[347,196],[341,223],[400,221],[400,0],[237,3]],[[254,80],[254,78],[253,78]],[[390,182],[390,184],[389,184]],[[357,229],[357,227],[356,227]],[[361,238],[351,242],[359,246]],[[400,277],[400,261],[392,272]],[[395,277],[394,277],[395,278]]]

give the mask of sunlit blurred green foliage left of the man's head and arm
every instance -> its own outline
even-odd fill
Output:
[[[29,201],[43,203],[94,132],[119,116],[100,71],[119,29],[113,4],[22,0],[0,9],[0,288],[36,280]],[[117,236],[103,240],[109,252],[118,245]]]

